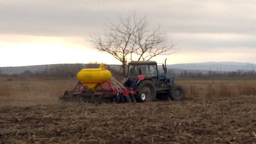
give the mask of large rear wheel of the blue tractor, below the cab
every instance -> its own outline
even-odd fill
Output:
[[[156,98],[156,86],[150,80],[140,82],[137,91],[140,102],[151,102]]]

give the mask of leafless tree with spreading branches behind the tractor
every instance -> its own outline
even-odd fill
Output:
[[[109,23],[103,34],[90,36],[93,47],[108,52],[122,62],[122,74],[128,61],[150,60],[157,55],[172,54],[174,44],[160,26],[150,30],[146,16],[138,18],[132,14],[118,17],[118,23]]]

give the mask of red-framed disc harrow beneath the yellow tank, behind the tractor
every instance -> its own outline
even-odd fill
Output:
[[[89,88],[86,84],[96,84],[96,87]],[[103,82],[81,82],[76,84],[76,87],[71,91],[65,91],[60,100],[65,102],[80,102],[80,103],[126,103],[136,102],[134,97],[136,92],[130,88],[124,87],[114,77]]]

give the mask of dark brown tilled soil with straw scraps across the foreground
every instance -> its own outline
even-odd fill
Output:
[[[0,143],[256,143],[256,96],[0,106]]]

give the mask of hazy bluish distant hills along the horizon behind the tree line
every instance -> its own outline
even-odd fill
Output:
[[[30,70],[32,73],[42,72],[46,68],[52,66],[65,65],[65,64],[50,64],[50,65],[37,65],[37,66],[16,66],[16,67],[0,67],[2,74],[21,74],[26,70]],[[82,68],[88,67],[88,64],[81,64]],[[119,65],[109,65],[113,70],[120,70]],[[236,71],[247,70],[247,63],[244,62],[203,62],[203,63],[189,63],[189,64],[170,64],[166,66],[168,69],[174,70],[175,73],[187,70],[188,72],[202,72],[207,74],[209,70],[212,71]],[[159,66],[159,70],[162,70]],[[248,66],[248,70],[253,70],[253,66]]]

